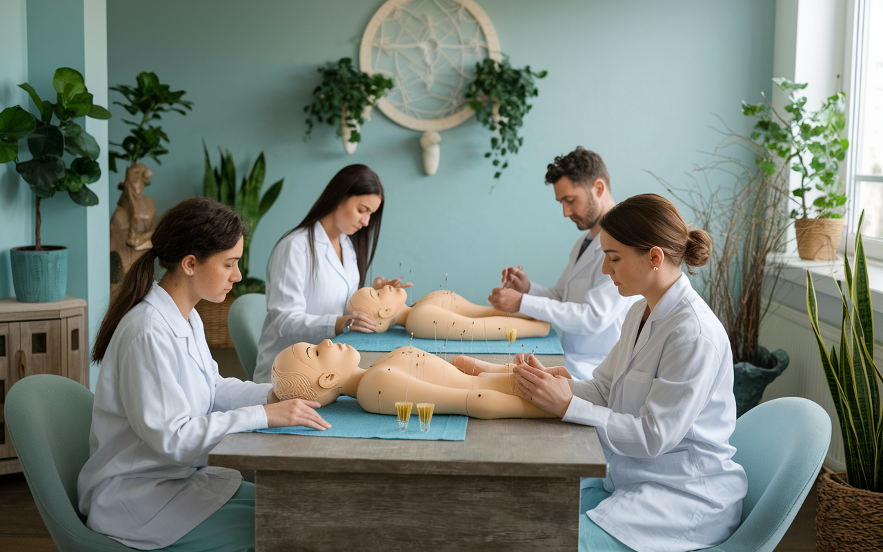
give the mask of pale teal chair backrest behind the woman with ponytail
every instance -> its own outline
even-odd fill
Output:
[[[6,424],[37,510],[62,552],[130,550],[90,531],[79,513],[77,477],[89,458],[94,395],[60,375],[35,374],[6,396]]]

